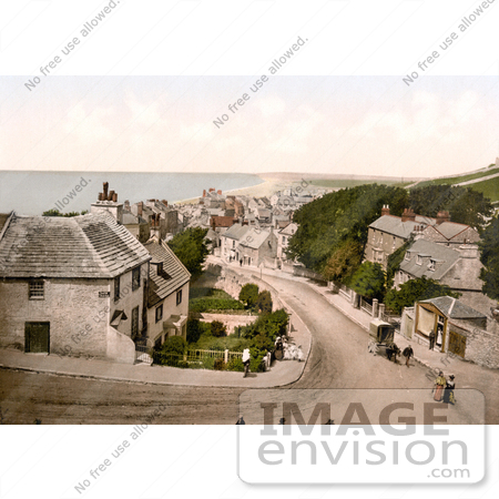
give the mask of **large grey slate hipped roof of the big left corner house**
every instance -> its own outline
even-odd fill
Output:
[[[150,259],[109,213],[14,215],[0,241],[0,277],[112,278]]]

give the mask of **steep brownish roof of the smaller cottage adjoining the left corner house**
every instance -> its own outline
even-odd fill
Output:
[[[191,281],[191,274],[166,243],[150,241],[144,246],[152,256],[147,296],[147,306],[152,307]],[[163,275],[159,275],[157,265],[153,265],[159,262],[163,263]]]

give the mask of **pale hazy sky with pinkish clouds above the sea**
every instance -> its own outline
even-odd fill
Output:
[[[499,155],[497,77],[266,74],[256,93],[257,77],[2,77],[0,170],[437,176]]]

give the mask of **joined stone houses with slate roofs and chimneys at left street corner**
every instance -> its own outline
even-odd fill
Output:
[[[186,336],[190,273],[104,194],[86,215],[0,217],[1,347],[133,364],[138,346]]]

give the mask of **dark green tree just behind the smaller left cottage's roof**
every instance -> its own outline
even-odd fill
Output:
[[[204,240],[206,233],[207,228],[190,227],[176,234],[169,242],[173,253],[175,253],[194,278],[203,273],[202,266],[208,254]]]

